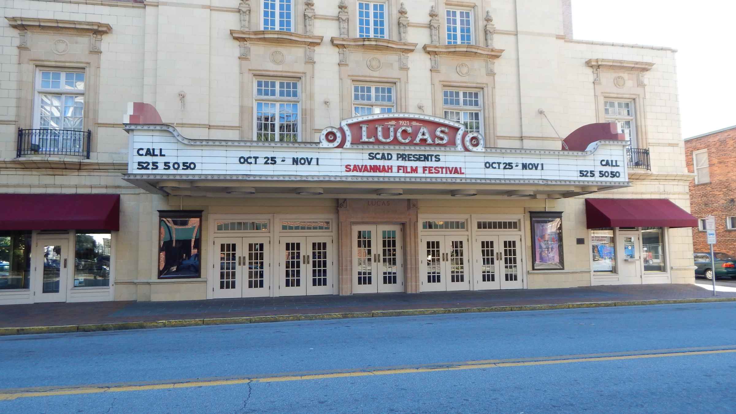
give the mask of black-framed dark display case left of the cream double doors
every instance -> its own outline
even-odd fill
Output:
[[[159,211],[158,278],[199,278],[202,211]]]

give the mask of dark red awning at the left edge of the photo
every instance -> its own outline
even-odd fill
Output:
[[[0,230],[120,229],[119,194],[0,194]]]

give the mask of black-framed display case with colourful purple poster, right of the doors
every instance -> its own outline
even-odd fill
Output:
[[[531,211],[532,270],[565,269],[562,253],[562,212]]]

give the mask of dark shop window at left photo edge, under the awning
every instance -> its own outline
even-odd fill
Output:
[[[0,231],[0,290],[29,289],[31,232]]]

